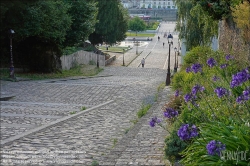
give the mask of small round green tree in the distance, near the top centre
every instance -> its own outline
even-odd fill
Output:
[[[135,31],[137,35],[137,32],[146,30],[147,25],[139,17],[134,17],[129,21],[128,27],[131,31]]]

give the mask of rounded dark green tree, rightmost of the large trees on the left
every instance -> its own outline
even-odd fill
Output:
[[[106,42],[116,43],[125,39],[127,16],[119,0],[96,0],[98,2],[98,23],[89,36],[92,44]],[[122,10],[121,10],[122,9]]]

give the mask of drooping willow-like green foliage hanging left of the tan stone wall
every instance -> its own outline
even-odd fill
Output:
[[[178,18],[176,30],[179,38],[186,39],[187,50],[199,45],[209,45],[211,38],[217,35],[218,22],[191,0],[176,0]]]

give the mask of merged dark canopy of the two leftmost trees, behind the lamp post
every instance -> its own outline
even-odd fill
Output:
[[[55,64],[48,59],[60,56],[63,47],[87,39],[94,31],[97,15],[93,0],[2,0],[0,9],[3,61],[9,61],[7,32],[13,29],[14,61],[21,63],[21,59],[25,66],[40,65],[40,68],[46,66],[44,63],[50,63],[48,68]]]

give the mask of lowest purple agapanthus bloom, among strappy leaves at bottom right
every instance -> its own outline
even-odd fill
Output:
[[[220,152],[226,149],[226,145],[222,144],[220,141],[212,140],[207,144],[207,153],[209,155],[218,155]]]

